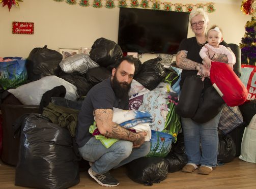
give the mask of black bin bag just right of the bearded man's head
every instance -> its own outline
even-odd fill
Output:
[[[145,61],[133,79],[147,89],[153,90],[165,77],[165,68],[160,64],[160,61],[160,57]]]

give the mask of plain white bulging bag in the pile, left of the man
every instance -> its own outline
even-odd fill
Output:
[[[46,76],[8,91],[24,105],[40,105],[43,94],[60,85],[66,88],[66,99],[77,99],[76,86],[57,76]]]

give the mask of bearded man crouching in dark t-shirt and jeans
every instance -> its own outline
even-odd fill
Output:
[[[128,110],[128,91],[134,71],[133,57],[119,59],[112,69],[111,78],[95,85],[87,93],[79,112],[78,150],[83,159],[90,162],[89,175],[103,186],[119,185],[109,170],[143,157],[150,151],[150,142],[145,141],[146,132],[133,133],[112,121],[114,107]],[[94,121],[101,135],[119,140],[106,148],[89,132]]]

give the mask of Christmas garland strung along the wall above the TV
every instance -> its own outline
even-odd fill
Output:
[[[53,1],[66,2],[69,5],[75,5],[78,3],[78,5],[82,7],[92,6],[94,8],[105,7],[108,9],[112,9],[115,7],[131,7],[131,8],[143,8],[143,9],[150,8],[154,10],[166,10],[166,11],[174,10],[177,12],[183,12],[183,11],[191,12],[193,8],[205,7],[208,13],[212,13],[215,11],[214,3],[211,3],[211,2],[207,4],[195,4],[195,5],[185,4],[184,5],[181,3],[172,4],[170,2],[160,2],[159,0],[53,0]],[[254,1],[254,0],[250,0],[250,1]]]

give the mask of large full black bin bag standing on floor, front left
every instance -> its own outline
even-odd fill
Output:
[[[79,167],[67,129],[32,113],[22,122],[15,185],[68,188],[79,183]]]

